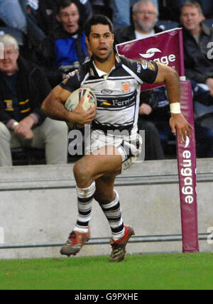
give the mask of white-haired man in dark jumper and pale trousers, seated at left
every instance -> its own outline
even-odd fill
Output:
[[[67,125],[40,110],[51,89],[43,72],[20,58],[12,36],[0,43],[0,165],[12,165],[11,147],[20,146],[45,148],[48,164],[67,163]]]

